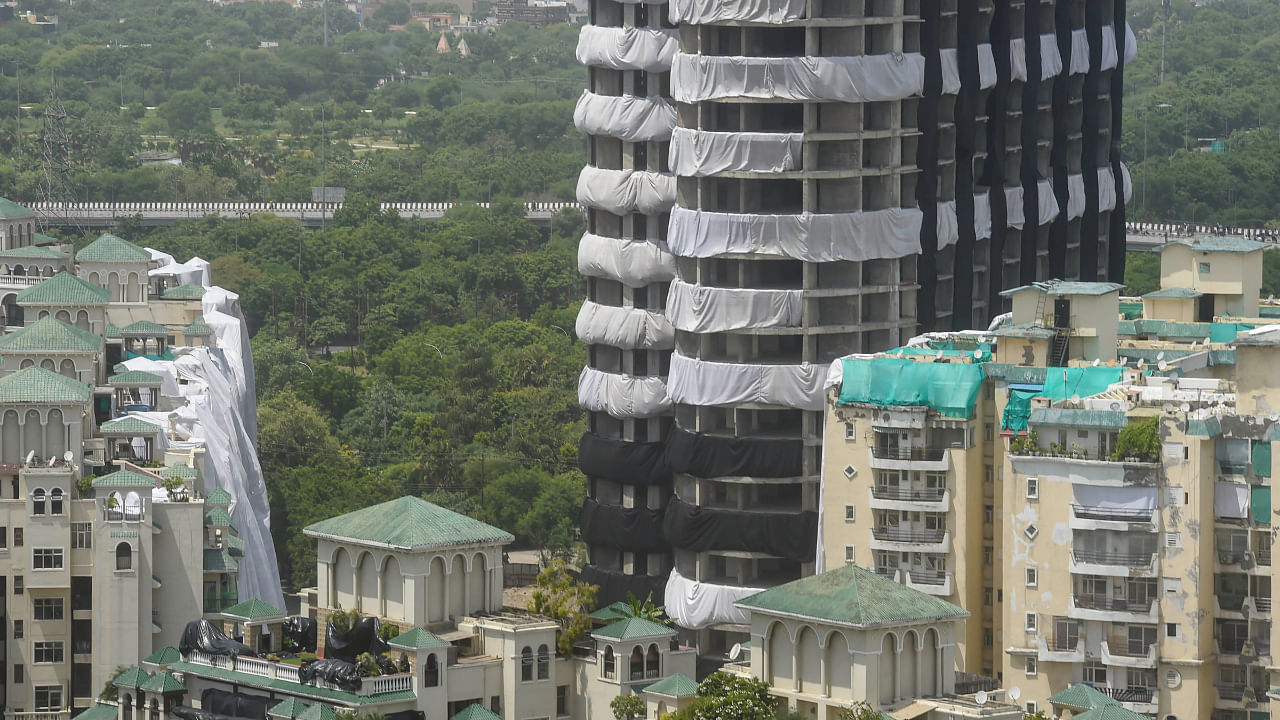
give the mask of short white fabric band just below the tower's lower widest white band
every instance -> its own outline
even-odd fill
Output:
[[[708,333],[742,328],[795,328],[804,315],[799,290],[705,287],[672,281],[667,319],[677,331]]]

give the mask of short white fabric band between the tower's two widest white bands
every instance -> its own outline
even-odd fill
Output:
[[[681,177],[732,170],[781,173],[800,168],[804,135],[797,132],[709,132],[675,128],[668,164]]]

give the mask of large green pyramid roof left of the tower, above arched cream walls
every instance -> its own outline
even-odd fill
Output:
[[[507,544],[516,539],[511,533],[488,523],[412,496],[320,520],[302,532],[310,537],[385,544],[399,550]]]

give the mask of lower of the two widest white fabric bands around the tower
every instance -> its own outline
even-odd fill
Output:
[[[667,243],[680,258],[760,254],[810,263],[904,258],[920,251],[915,209],[751,215],[672,208]]]

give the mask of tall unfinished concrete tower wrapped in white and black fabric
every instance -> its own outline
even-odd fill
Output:
[[[593,0],[577,329],[604,598],[672,570],[689,597],[812,573],[828,363],[986,327],[1036,279],[1123,274],[1124,15]],[[677,594],[681,625],[745,629]]]

